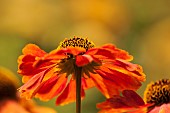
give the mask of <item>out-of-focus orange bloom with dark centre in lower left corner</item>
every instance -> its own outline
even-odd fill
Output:
[[[56,113],[53,109],[36,105],[17,94],[19,80],[8,69],[0,67],[0,113]]]

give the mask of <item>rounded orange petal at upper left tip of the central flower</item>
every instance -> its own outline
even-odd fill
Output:
[[[35,44],[27,44],[23,50],[22,50],[23,54],[30,54],[33,56],[37,56],[37,57],[43,57],[46,52],[41,50],[37,45]]]

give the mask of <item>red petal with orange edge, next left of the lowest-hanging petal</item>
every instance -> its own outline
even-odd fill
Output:
[[[36,97],[41,100],[49,100],[60,94],[66,87],[66,75],[53,76],[43,82],[41,88],[37,91]]]

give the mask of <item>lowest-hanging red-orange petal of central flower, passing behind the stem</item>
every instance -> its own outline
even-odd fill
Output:
[[[84,89],[81,90],[81,98],[85,96]],[[70,80],[65,90],[57,98],[56,105],[64,105],[76,100],[76,83],[75,80]]]

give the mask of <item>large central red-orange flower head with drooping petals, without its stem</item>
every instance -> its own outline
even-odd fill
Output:
[[[78,37],[64,40],[50,53],[28,44],[18,58],[18,73],[25,83],[19,91],[26,98],[58,96],[56,105],[61,105],[75,101],[80,81],[81,98],[85,89],[94,86],[109,98],[124,89],[136,90],[145,80],[142,68],[131,60],[132,56],[112,44],[97,48]]]

